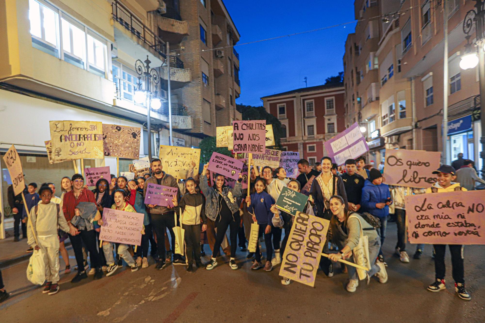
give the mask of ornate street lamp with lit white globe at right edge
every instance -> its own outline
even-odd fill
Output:
[[[467,44],[465,45],[465,54],[461,57],[460,67],[463,69],[469,69],[477,66],[478,64],[478,79],[480,82],[480,123],[482,129],[482,135],[480,137],[480,143],[482,144],[482,151],[480,152],[480,158],[482,159],[482,177],[485,178],[485,46],[484,46],[484,15],[485,15],[485,1],[474,0],[475,9],[471,9],[465,15],[463,19],[463,32],[467,34]],[[475,27],[475,29],[473,29]],[[472,44],[470,43],[470,37],[473,32],[476,32],[476,42],[473,44],[478,51],[478,55],[475,51],[471,50]]]

